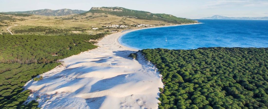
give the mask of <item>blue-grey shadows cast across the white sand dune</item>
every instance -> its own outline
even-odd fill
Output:
[[[57,90],[57,89],[64,88],[64,87],[72,87],[78,83],[83,83],[84,86],[82,86],[81,88],[78,88],[74,92],[71,92],[70,98],[67,97],[67,98],[62,98],[58,101],[57,100],[52,101],[52,103],[57,105],[57,106],[66,106],[66,105],[71,105],[68,103],[70,100],[73,99],[73,97],[75,97],[75,96],[71,96],[73,94],[83,94],[85,92],[91,93],[91,92],[96,92],[96,91],[103,91],[103,90],[113,88],[113,87],[117,86],[118,84],[127,83],[128,80],[126,80],[125,77],[129,76],[129,75],[133,75],[133,74],[122,74],[122,75],[117,75],[117,76],[112,77],[112,78],[102,79],[102,80],[95,82],[93,85],[91,85],[91,87],[88,87],[87,84],[90,84],[93,79],[91,80],[91,78],[86,77],[87,81],[85,81],[85,80],[83,80],[84,78],[76,78],[76,76],[97,71],[97,70],[99,70],[99,68],[106,69],[106,68],[110,68],[110,67],[102,67],[102,66],[90,66],[90,67],[87,66],[87,67],[85,67],[85,66],[81,65],[80,67],[68,68],[70,66],[80,64],[80,63],[87,64],[87,62],[105,63],[105,62],[111,60],[111,58],[113,58],[114,56],[119,56],[119,57],[125,58],[125,59],[132,59],[128,56],[131,53],[136,53],[136,51],[124,50],[124,51],[113,51],[113,53],[114,54],[111,56],[106,56],[106,57],[101,57],[101,58],[84,59],[84,60],[94,59],[92,61],[83,61],[83,62],[76,62],[76,63],[70,64],[70,65],[66,66],[65,70],[62,70],[62,71],[55,73],[53,75],[49,75],[48,77],[45,77],[43,80],[39,80],[37,82],[35,82],[35,81],[29,82],[27,84],[27,86],[25,86],[25,88],[27,89],[30,86],[41,86],[41,85],[45,84],[42,88],[39,89],[39,91],[43,90],[44,88],[50,89],[50,87],[54,88],[54,90]],[[99,60],[96,60],[96,59],[99,59]],[[143,63],[139,62],[139,63],[144,64],[144,62]],[[58,86],[57,87],[53,86],[55,84]],[[97,98],[89,98],[89,99],[85,99],[85,100],[86,100],[87,105],[90,108],[100,108],[101,104],[104,102],[105,99],[106,99],[106,97],[102,96],[102,97],[97,97]],[[158,98],[156,98],[156,99],[158,99]],[[65,103],[67,103],[67,104],[65,104]],[[70,103],[72,103],[72,102],[70,102]],[[47,107],[47,105],[46,105],[46,107]],[[48,106],[47,108],[50,108],[50,107]]]

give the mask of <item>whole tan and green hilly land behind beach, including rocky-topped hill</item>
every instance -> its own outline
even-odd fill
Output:
[[[82,14],[65,16],[0,13],[0,34],[10,34],[8,27],[16,35],[66,35],[113,33],[126,29],[188,23],[196,22],[168,14],[152,14],[119,7],[93,7]]]

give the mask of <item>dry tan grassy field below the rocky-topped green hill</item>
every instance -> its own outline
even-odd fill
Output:
[[[17,35],[63,35],[63,34],[99,34],[108,31],[121,31],[136,28],[133,25],[174,25],[157,20],[144,20],[118,17],[105,13],[86,13],[67,16],[13,15],[0,14],[0,34]],[[128,28],[105,28],[109,25],[127,25]],[[36,29],[38,28],[38,29]],[[43,28],[43,29],[40,29]],[[92,30],[92,28],[99,28]]]

